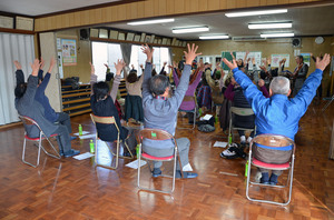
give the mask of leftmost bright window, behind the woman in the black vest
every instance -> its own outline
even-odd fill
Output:
[[[120,46],[118,43],[92,42],[92,63],[95,66],[95,73],[98,76],[98,81],[106,79],[105,63],[108,63],[110,71],[116,73],[114,62],[122,59]]]

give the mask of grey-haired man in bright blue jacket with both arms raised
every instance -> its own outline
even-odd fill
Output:
[[[287,78],[275,77],[269,84],[271,98],[265,98],[248,77],[238,70],[235,60],[230,62],[227,59],[223,59],[223,61],[233,71],[236,82],[243,88],[244,94],[252,106],[256,117],[256,134],[281,134],[294,140],[298,131],[298,122],[316,93],[316,89],[323,77],[323,70],[330,63],[331,57],[330,54],[325,54],[323,59],[316,58],[316,70],[310,74],[293,99],[288,99],[291,86]],[[258,154],[258,158],[261,157],[261,161],[266,163],[284,163],[291,158],[291,151],[282,151],[275,156],[268,158],[264,157],[264,154]],[[277,178],[282,173],[282,171],[275,170],[269,177],[268,170],[261,169],[261,182],[269,184],[276,184]]]

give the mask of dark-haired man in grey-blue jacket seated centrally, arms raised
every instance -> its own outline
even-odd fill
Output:
[[[186,91],[189,86],[189,77],[191,70],[193,60],[202,53],[196,53],[198,47],[188,44],[188,51],[185,51],[186,63],[183,74],[179,80],[179,84],[176,88],[174,94],[170,97],[170,84],[166,76],[157,74],[151,77],[151,58],[154,49],[150,49],[147,44],[143,46],[141,50],[147,56],[144,82],[143,82],[143,108],[144,108],[144,127],[150,129],[163,129],[168,133],[175,136],[175,129],[177,126],[177,112],[181,104]],[[196,178],[197,173],[186,172],[193,171],[188,160],[190,141],[187,138],[176,139],[179,159],[181,167],[177,163],[176,178],[181,178],[181,169],[184,178]],[[154,157],[169,157],[174,153],[174,143],[171,140],[159,141],[157,144],[154,140],[145,140],[143,142],[143,149],[148,154]],[[153,177],[159,177],[161,174],[161,162],[154,163]]]

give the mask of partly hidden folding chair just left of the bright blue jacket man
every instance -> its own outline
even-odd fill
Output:
[[[244,131],[254,131],[254,133],[256,132],[256,127],[254,126],[254,128],[239,128],[239,127],[235,127],[233,124],[233,114],[236,116],[253,116],[254,112],[250,108],[237,108],[237,107],[230,107],[229,108],[229,129],[228,129],[228,137],[232,137],[232,139],[228,139],[228,143],[230,143],[229,141],[234,141],[234,133],[233,130],[244,130]]]

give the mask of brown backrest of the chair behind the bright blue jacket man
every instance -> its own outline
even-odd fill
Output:
[[[271,134],[271,133],[264,133],[256,136],[252,142],[258,143],[265,147],[273,147],[273,148],[292,148],[295,150],[295,142],[279,134]]]

